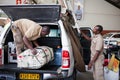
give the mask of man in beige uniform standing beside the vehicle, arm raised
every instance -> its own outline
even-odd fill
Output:
[[[93,29],[94,36],[89,38],[82,31],[82,35],[87,39],[91,40],[91,60],[88,64],[88,70],[93,66],[93,77],[94,80],[104,80],[104,55],[103,55],[103,37],[101,32],[103,27],[96,25]]]

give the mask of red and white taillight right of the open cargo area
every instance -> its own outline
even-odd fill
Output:
[[[62,68],[69,68],[70,67],[70,55],[69,52],[66,50],[62,51]]]

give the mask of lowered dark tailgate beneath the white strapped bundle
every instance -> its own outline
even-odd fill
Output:
[[[60,66],[45,65],[40,69],[22,69],[17,68],[17,64],[5,64],[0,66],[0,71],[29,72],[29,73],[55,73]]]

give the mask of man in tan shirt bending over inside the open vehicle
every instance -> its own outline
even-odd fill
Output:
[[[50,28],[48,26],[42,27],[29,19],[16,20],[12,24],[11,30],[13,32],[17,54],[22,52],[25,45],[27,48],[31,49],[32,53],[35,55],[37,51],[34,49],[31,42],[33,42],[35,46],[39,46],[36,39],[44,37],[50,33]]]

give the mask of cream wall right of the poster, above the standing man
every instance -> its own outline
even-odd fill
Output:
[[[80,26],[100,24],[104,30],[120,30],[120,9],[104,0],[84,0],[83,16]]]

